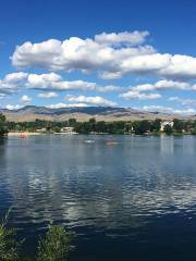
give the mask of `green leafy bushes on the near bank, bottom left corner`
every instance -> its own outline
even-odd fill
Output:
[[[15,240],[16,231],[7,228],[5,219],[0,224],[0,261],[68,261],[74,234],[66,232],[63,226],[49,225],[46,236],[38,243],[38,253],[35,259],[21,257],[20,250],[23,241]]]

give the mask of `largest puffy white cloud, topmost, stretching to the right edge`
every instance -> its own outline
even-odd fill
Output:
[[[148,32],[102,33],[94,38],[49,39],[17,46],[11,60],[19,69],[41,67],[83,73],[97,72],[102,78],[125,74],[196,79],[196,58],[160,53],[145,44]]]

